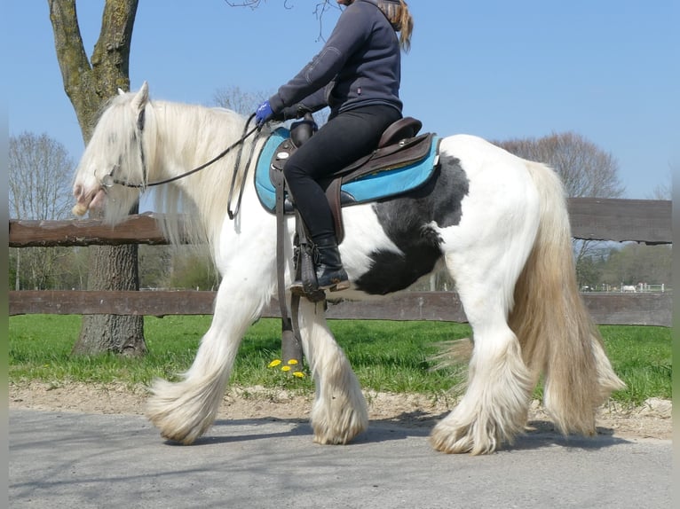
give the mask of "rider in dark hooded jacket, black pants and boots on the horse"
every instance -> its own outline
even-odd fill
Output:
[[[337,3],[346,8],[328,42],[256,112],[261,127],[330,106],[328,122],[292,154],[283,174],[319,254],[319,287],[331,291],[348,288],[350,282],[319,181],[371,153],[384,129],[401,118],[399,50],[409,50],[413,29],[404,0]]]

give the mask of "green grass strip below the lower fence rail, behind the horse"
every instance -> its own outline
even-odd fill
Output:
[[[30,315],[10,317],[9,380],[21,383],[83,381],[123,382],[130,387],[156,377],[172,380],[193,362],[212,317],[146,317],[148,355],[71,356],[81,317]],[[421,393],[436,398],[463,381],[454,368],[432,370],[439,341],[470,336],[468,325],[437,322],[332,320],[363,388]],[[614,370],[628,386],[613,395],[639,404],[649,397],[671,397],[671,338],[663,327],[603,326],[605,347]],[[281,354],[281,323],[263,319],[249,328],[234,365],[232,383],[242,387],[293,388],[312,392],[310,377],[297,379],[267,364]],[[540,395],[541,388],[537,389]]]

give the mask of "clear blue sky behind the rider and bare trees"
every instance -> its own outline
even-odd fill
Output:
[[[317,0],[141,0],[130,82],[152,98],[213,104],[219,89],[271,93],[320,50],[338,11]],[[80,0],[85,50],[103,0]],[[288,5],[290,8],[286,8]],[[436,6],[435,6],[436,5]],[[411,0],[404,114],[423,130],[491,140],[573,131],[619,164],[625,197],[648,199],[680,171],[680,66],[675,0]],[[47,2],[14,0],[8,19],[10,135],[47,133],[74,161],[83,151],[63,90]],[[257,105],[253,105],[255,108]]]

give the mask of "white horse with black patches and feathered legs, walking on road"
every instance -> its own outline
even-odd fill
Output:
[[[254,165],[237,151],[261,149],[270,130],[243,139],[249,119],[223,108],[151,100],[140,90],[112,98],[75,169],[75,215],[96,210],[123,221],[141,192],[155,193],[164,228],[178,239],[188,212],[194,241],[207,242],[222,276],[210,328],[179,381],[154,380],[146,417],[163,438],[190,444],[212,425],[249,325],[277,287],[276,221],[258,202]],[[234,172],[237,172],[236,174]],[[179,176],[184,176],[180,178]],[[225,196],[242,187],[230,218]],[[242,182],[241,182],[242,181]],[[412,192],[343,209],[340,253],[352,285],[344,299],[389,298],[434,270],[455,281],[472,329],[467,384],[431,430],[446,453],[488,454],[526,427],[543,377],[543,404],[566,435],[594,435],[599,405],[623,387],[578,292],[564,186],[554,170],[480,137],[443,137],[439,170]],[[186,223],[184,223],[186,226]],[[295,223],[286,219],[285,285],[294,275]],[[315,394],[313,442],[345,444],[368,427],[359,380],[324,316],[323,301],[301,299],[299,333]]]

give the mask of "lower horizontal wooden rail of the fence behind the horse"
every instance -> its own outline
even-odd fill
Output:
[[[10,292],[10,315],[210,315],[216,292]],[[664,294],[582,294],[600,325],[671,326],[673,296]],[[275,299],[262,317],[281,317]],[[405,292],[376,301],[328,301],[328,318],[357,320],[427,320],[466,323],[455,292]]]

